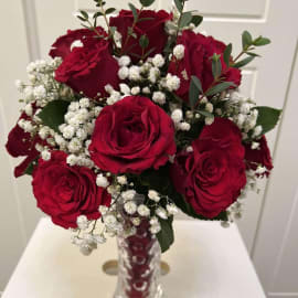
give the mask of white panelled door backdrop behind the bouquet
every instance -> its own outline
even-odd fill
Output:
[[[121,8],[125,0],[109,0]],[[137,0],[131,1],[138,3]],[[157,6],[168,8],[171,0]],[[224,4],[223,4],[224,3]],[[286,3],[286,4],[285,4]],[[18,118],[15,78],[25,78],[30,60],[46,57],[50,45],[66,29],[77,28],[77,9],[92,10],[92,0],[13,0],[0,1],[0,291],[41,216],[35,207],[30,178],[14,180],[15,161],[3,150],[9,129]],[[269,134],[275,171],[269,183],[263,181],[259,194],[251,193],[246,213],[238,223],[262,281],[269,297],[298,297],[297,272],[297,158],[295,128],[298,66],[297,0],[189,0],[189,9],[205,15],[202,29],[241,49],[241,33],[249,30],[264,34],[273,44],[262,49],[257,60],[244,71],[242,92],[259,105],[284,108],[283,124]],[[295,66],[296,65],[296,66]],[[296,109],[295,109],[296,108]]]

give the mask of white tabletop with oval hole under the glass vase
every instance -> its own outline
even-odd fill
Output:
[[[265,298],[236,225],[177,221],[175,243],[163,255],[167,298]],[[70,233],[40,221],[2,298],[111,298],[117,278],[102,272],[117,258],[109,240],[91,256],[81,255]]]

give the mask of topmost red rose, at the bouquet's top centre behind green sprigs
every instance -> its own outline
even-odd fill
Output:
[[[121,10],[118,17],[110,18],[110,26],[116,26],[117,31],[123,36],[123,53],[126,53],[131,56],[134,62],[137,62],[138,58],[136,55],[142,55],[142,49],[139,45],[139,39],[141,35],[147,35],[149,40],[149,45],[146,49],[148,53],[151,49],[155,49],[149,56],[153,56],[158,53],[162,53],[166,43],[168,41],[168,35],[164,31],[164,24],[172,17],[164,10],[158,12],[152,10],[143,10],[140,13],[139,19],[148,19],[139,21],[134,32],[137,34],[137,38],[128,36],[128,29],[132,26],[134,15],[130,10]]]

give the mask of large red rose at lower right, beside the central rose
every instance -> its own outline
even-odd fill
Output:
[[[215,118],[192,147],[193,152],[177,156],[171,178],[198,214],[213,219],[236,201],[246,184],[241,131],[228,119]]]

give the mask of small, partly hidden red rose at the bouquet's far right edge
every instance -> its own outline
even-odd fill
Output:
[[[252,143],[245,143],[246,167],[254,171],[258,166],[265,167],[267,171],[264,174],[268,177],[273,169],[273,160],[266,137],[263,136],[257,142],[259,143],[257,149],[252,149]]]

